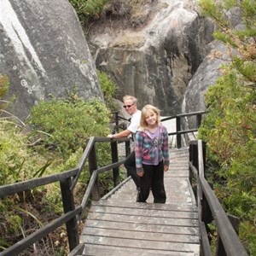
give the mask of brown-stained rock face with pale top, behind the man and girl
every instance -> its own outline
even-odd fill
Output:
[[[96,67],[118,84],[119,100],[131,94],[139,108],[150,103],[163,115],[181,113],[189,80],[212,41],[213,26],[198,15],[195,2],[152,1],[150,14],[145,7],[147,22],[136,29],[95,26],[90,49]]]

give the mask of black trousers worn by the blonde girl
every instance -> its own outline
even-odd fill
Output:
[[[146,202],[150,192],[154,196],[154,203],[166,202],[166,189],[164,185],[164,163],[158,166],[143,165],[144,174],[140,177],[140,191],[137,196],[138,202]]]

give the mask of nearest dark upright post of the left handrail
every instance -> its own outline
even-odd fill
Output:
[[[73,191],[70,189],[72,185],[71,178],[69,177],[65,180],[61,180],[60,184],[64,213],[73,211],[75,209],[75,204],[73,200]],[[73,248],[79,245],[79,227],[77,218],[71,218],[67,221],[66,227],[69,251],[71,252]]]

